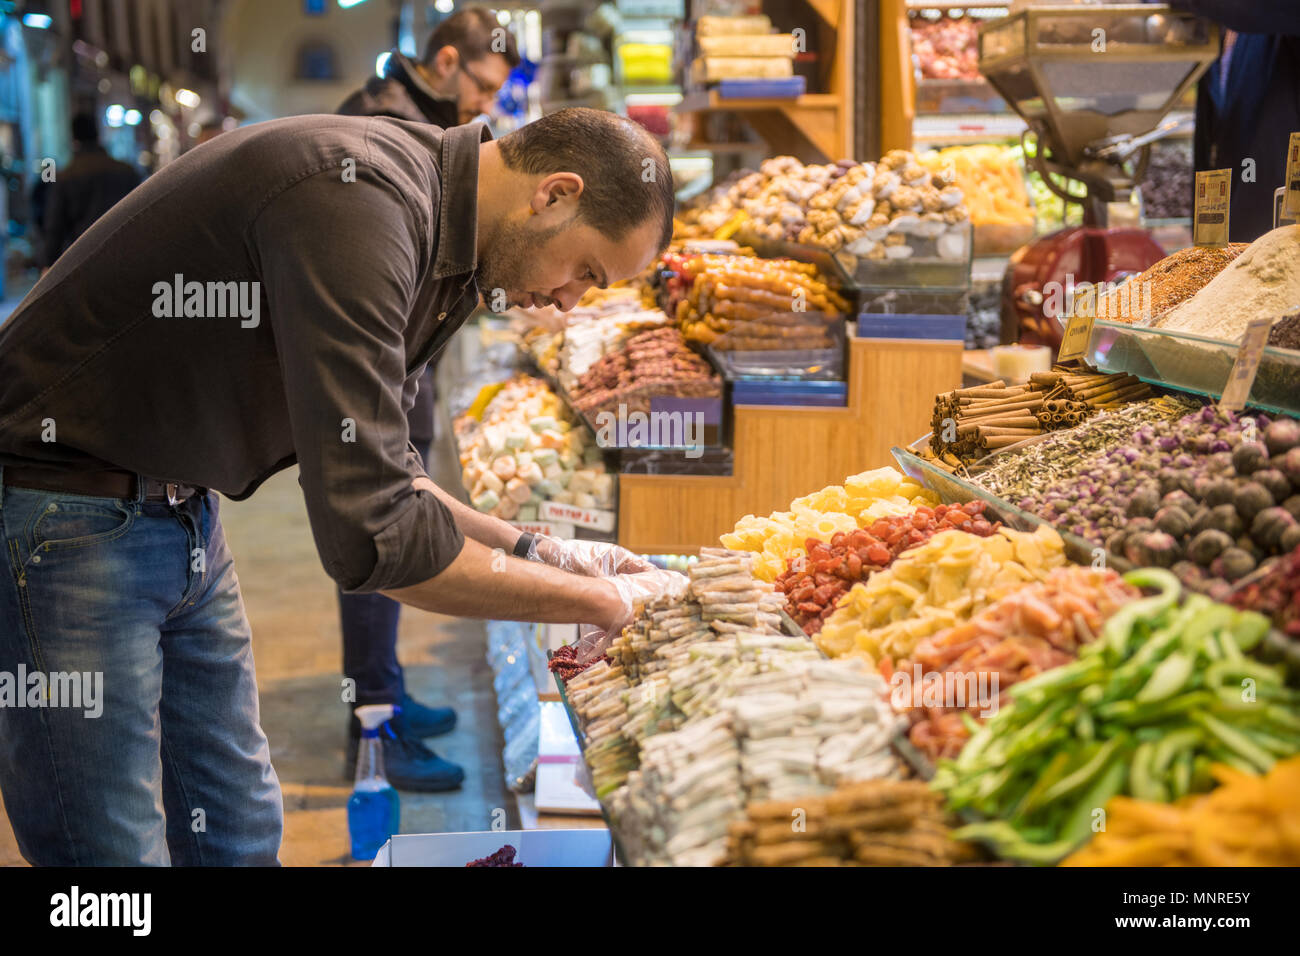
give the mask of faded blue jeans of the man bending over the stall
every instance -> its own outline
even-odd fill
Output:
[[[101,680],[92,708],[55,700],[53,678],[48,706],[0,706],[0,790],[23,857],[276,865],[280,782],[216,493],[173,509],[3,477],[0,671]]]

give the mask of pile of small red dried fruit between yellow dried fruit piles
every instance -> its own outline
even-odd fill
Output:
[[[987,537],[997,527],[984,518],[982,501],[920,506],[910,515],[878,518],[868,528],[837,532],[829,542],[807,538],[807,553],[790,557],[776,588],[788,598],[785,611],[811,636],[849,588],[864,581],[872,571],[889,567],[909,548],[940,531],[957,528]]]

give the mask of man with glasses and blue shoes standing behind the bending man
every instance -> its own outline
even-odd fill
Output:
[[[510,31],[488,10],[474,8],[447,17],[429,36],[424,59],[415,62],[394,49],[384,77],[372,77],[347,98],[339,113],[391,116],[396,120],[456,126],[490,109],[497,91],[519,65]],[[415,405],[407,415],[411,444],[422,462],[433,442],[434,369],[420,378]],[[400,713],[384,740],[384,766],[399,790],[441,791],[459,787],[464,770],[425,747],[420,737],[446,734],[456,726],[451,708],[430,708],[406,692],[398,662],[398,620],[402,605],[384,594],[338,592],[343,632],[343,675],[356,687],[356,706],[396,704]],[[343,775],[356,770],[361,726],[348,718]]]

